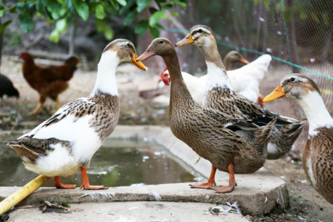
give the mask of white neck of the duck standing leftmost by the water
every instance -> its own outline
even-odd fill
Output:
[[[102,54],[97,68],[96,84],[92,94],[99,92],[108,93],[111,96],[118,96],[116,69],[120,64],[116,52],[106,51]]]

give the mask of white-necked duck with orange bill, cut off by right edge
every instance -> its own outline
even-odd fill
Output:
[[[289,74],[263,102],[288,97],[304,110],[309,133],[303,150],[303,168],[315,190],[333,204],[333,119],[317,84],[303,74]]]

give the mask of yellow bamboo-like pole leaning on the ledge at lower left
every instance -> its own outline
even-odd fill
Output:
[[[43,186],[48,179],[50,178],[40,175],[22,186],[22,188],[20,188],[17,192],[0,202],[0,215],[7,212],[7,210],[20,203],[24,198],[36,191],[36,189]]]

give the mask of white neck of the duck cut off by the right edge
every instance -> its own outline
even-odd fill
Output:
[[[309,136],[315,136],[317,128],[333,126],[333,119],[328,113],[324,101],[316,91],[309,91],[298,104],[304,110],[309,121]]]

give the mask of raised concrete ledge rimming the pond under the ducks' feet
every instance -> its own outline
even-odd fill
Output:
[[[197,155],[190,147],[178,140],[167,126],[124,126],[118,125],[111,138],[152,140],[169,149],[175,156],[199,173],[208,176],[211,164]],[[216,175],[217,185],[227,185],[228,174]],[[42,187],[19,205],[35,205],[45,200],[70,204],[96,203],[96,208],[107,202],[128,201],[167,201],[226,204],[237,202],[243,215],[262,215],[274,208],[286,208],[289,204],[286,183],[265,169],[254,174],[236,174],[238,186],[229,194],[218,194],[211,189],[191,189],[188,183],[159,184],[144,186],[110,187],[103,191],[84,191],[81,189],[63,190]],[[0,187],[0,200],[14,193],[20,187]],[[230,220],[238,221],[238,220]]]

